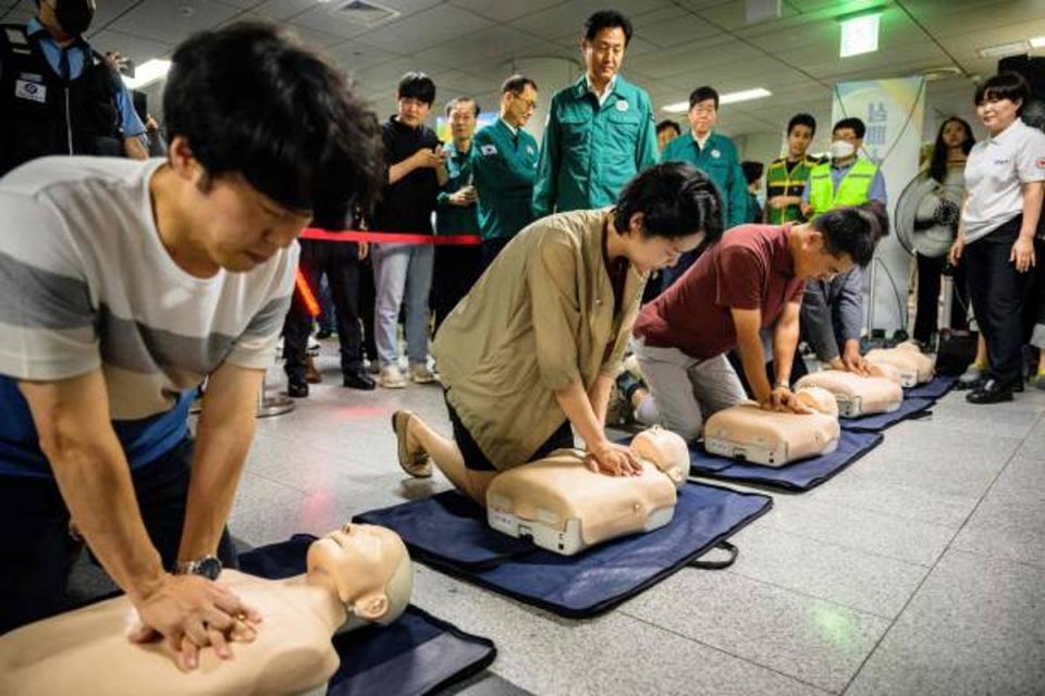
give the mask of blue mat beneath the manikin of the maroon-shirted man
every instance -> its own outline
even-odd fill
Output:
[[[843,430],[838,447],[832,453],[803,459],[784,467],[743,463],[735,459],[709,455],[702,446],[697,450],[691,446],[689,474],[785,490],[809,490],[866,455],[883,439],[884,436],[881,433],[855,433]]]

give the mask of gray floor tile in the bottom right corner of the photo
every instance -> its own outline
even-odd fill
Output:
[[[847,696],[1041,694],[1045,571],[948,551]]]

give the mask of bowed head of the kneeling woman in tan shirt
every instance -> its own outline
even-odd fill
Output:
[[[675,265],[679,257],[722,237],[722,202],[706,175],[683,162],[663,162],[624,187],[613,228],[627,240],[639,273]]]

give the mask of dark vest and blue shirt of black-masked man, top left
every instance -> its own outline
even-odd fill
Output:
[[[123,156],[145,133],[126,87],[82,38],[62,48],[38,20],[0,26],[0,176],[48,154]]]

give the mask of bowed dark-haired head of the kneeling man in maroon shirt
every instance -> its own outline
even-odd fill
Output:
[[[795,276],[831,281],[855,265],[866,266],[878,239],[888,233],[888,214],[877,201],[819,215],[792,232],[797,237],[791,241]]]

